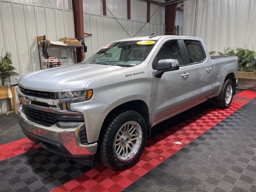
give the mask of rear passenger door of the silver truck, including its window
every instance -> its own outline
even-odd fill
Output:
[[[191,80],[190,104],[193,105],[206,100],[212,91],[212,60],[206,57],[200,40],[184,39],[184,45],[189,60],[186,66]]]

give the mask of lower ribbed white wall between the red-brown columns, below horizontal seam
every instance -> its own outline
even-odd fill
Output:
[[[145,24],[144,22],[125,19],[118,19],[118,21],[132,37]],[[85,37],[85,44],[87,46],[86,57],[110,41],[130,38],[114,18],[102,15],[84,14],[84,32],[92,34],[90,37]],[[164,35],[165,26],[151,23],[146,24],[136,37],[149,36],[151,33]]]

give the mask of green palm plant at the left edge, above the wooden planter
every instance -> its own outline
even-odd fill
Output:
[[[3,52],[3,49],[2,49]],[[12,66],[12,54],[10,52],[6,52],[4,56],[0,56],[0,80],[2,82],[2,86],[10,76],[19,76],[17,72],[15,72],[16,68]]]

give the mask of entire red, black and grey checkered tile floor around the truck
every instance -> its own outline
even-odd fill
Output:
[[[0,191],[256,192],[255,152],[255,91],[238,93],[226,110],[204,103],[158,124],[140,161],[118,172],[44,150],[23,136],[17,116],[5,115]]]

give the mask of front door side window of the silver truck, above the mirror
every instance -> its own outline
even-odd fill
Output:
[[[162,59],[177,59],[182,65],[182,57],[177,40],[170,40],[164,43],[154,59],[152,68],[156,70],[158,61]]]

